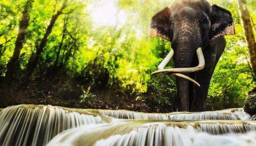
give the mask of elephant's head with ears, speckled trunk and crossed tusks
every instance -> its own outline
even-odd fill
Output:
[[[158,71],[152,74],[170,73],[176,76],[177,93],[180,104],[183,104],[188,99],[188,81],[200,86],[188,77],[188,73],[198,72],[204,68],[202,50],[211,45],[216,38],[234,33],[233,19],[226,9],[217,5],[211,6],[204,0],[177,0],[151,19],[148,35],[167,39],[172,44],[170,53],[158,66]],[[192,66],[195,54],[198,65]],[[175,68],[163,69],[171,58],[174,59]],[[179,110],[188,111],[188,107]]]

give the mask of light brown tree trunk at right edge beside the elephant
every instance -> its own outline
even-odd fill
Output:
[[[245,0],[237,0],[237,3],[239,7],[239,14],[241,18],[242,27],[244,30],[245,40],[249,49],[253,73],[254,76],[256,77],[256,42],[255,36],[253,34],[251,16],[248,11],[248,8],[246,7]]]

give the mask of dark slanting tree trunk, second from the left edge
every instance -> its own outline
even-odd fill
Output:
[[[42,51],[43,51],[43,49],[44,49],[44,47],[45,47],[45,45],[46,45],[47,38],[48,38],[49,34],[52,32],[52,28],[53,28],[53,26],[54,26],[54,23],[56,22],[56,20],[58,19],[58,17],[62,14],[63,9],[64,9],[65,7],[67,7],[67,5],[66,5],[66,3],[64,2],[63,5],[62,5],[62,7],[61,7],[61,9],[60,9],[59,11],[57,11],[57,13],[52,16],[52,18],[51,18],[51,20],[50,20],[50,24],[49,24],[49,26],[47,27],[46,32],[45,32],[45,34],[44,34],[44,37],[42,38],[40,45],[37,47],[37,50],[36,50],[36,52],[35,52],[34,58],[31,57],[31,58],[29,59],[29,63],[28,63],[28,65],[27,65],[27,69],[26,69],[25,80],[24,80],[24,81],[25,81],[25,82],[24,82],[25,84],[27,84],[27,83],[30,82],[31,75],[32,75],[32,73],[34,72],[35,67],[37,66],[39,57],[40,57],[40,55],[41,55],[41,53],[42,53]]]

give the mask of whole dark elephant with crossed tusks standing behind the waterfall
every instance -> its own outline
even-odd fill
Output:
[[[171,49],[152,74],[176,76],[178,111],[206,110],[210,80],[226,47],[224,36],[234,34],[231,13],[205,0],[177,0],[153,16],[148,35],[168,40]],[[175,68],[164,69],[172,58]]]

